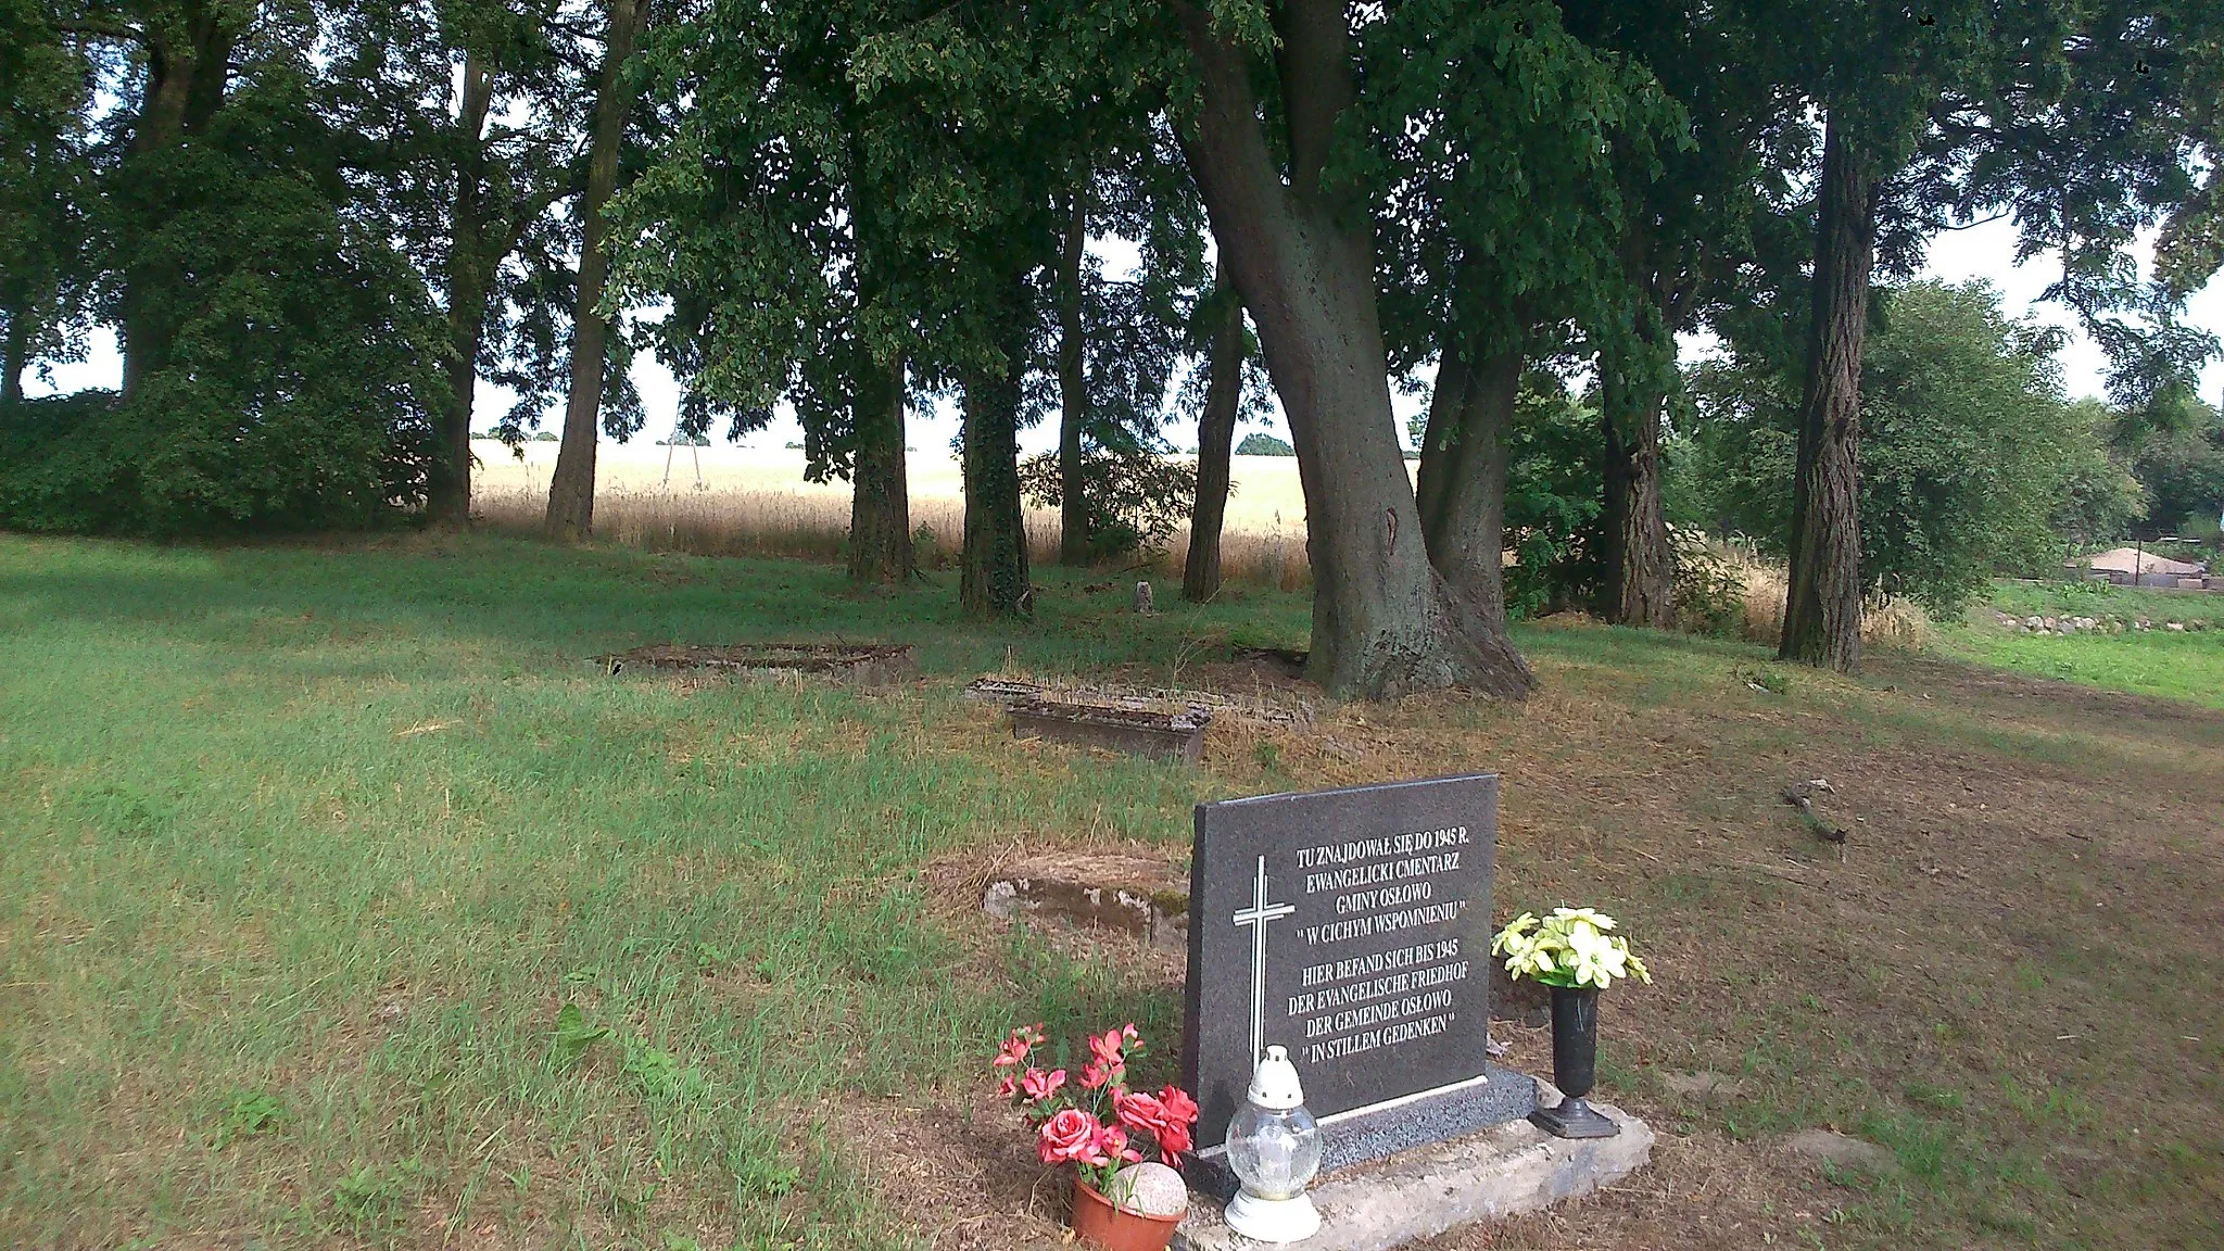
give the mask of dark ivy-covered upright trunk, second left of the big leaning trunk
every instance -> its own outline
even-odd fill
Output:
[[[992,370],[970,367],[961,378],[965,552],[959,563],[959,605],[967,617],[1032,617],[1027,516],[1019,503],[1019,403],[1032,321],[1025,278],[1005,278],[992,298],[1001,303],[992,316],[1003,363]]]

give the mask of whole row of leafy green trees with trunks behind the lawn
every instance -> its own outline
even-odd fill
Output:
[[[1850,668],[1864,603],[2042,514],[2213,505],[2217,47],[2213,0],[0,0],[0,525],[467,525],[492,381],[587,536],[652,352],[683,441],[794,412],[858,579],[914,572],[905,414],[947,398],[967,612],[1032,610],[1025,499],[1061,561],[1185,521],[1210,599],[1277,394],[1337,692],[1523,695],[1508,545],[1670,623],[1672,514],[1781,550],[1784,654]],[[1977,292],[1873,298],[1988,216],[2062,260],[2106,412]],[[120,390],[24,403],[93,329]]]

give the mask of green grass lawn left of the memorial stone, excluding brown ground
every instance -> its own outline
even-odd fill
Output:
[[[1001,768],[916,732],[963,723],[952,688],[687,690],[585,657],[847,634],[1056,670],[1303,637],[1288,597],[1043,601],[983,632],[947,585],[803,563],[0,536],[0,1242],[456,1211],[583,1247],[665,1220],[878,1242],[810,1109],[1110,995],[1025,948],[1025,993],[947,979],[921,866],[1041,828],[1179,839],[1210,779]],[[563,1004],[609,1028],[576,1066],[549,1062]]]

